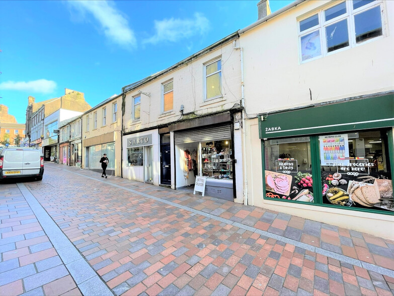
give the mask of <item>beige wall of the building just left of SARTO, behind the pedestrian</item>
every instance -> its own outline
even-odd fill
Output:
[[[115,122],[112,121],[112,104],[117,102],[117,120]],[[89,113],[85,113],[82,117],[82,140],[89,139],[95,136],[103,135],[106,133],[113,132],[114,133],[114,142],[115,142],[115,176],[121,176],[121,130],[122,130],[122,97],[118,97],[111,102],[97,108]],[[102,126],[102,112],[103,108],[107,108],[107,120],[106,125]],[[97,111],[97,128],[94,128],[93,125],[93,113]],[[86,121],[87,116],[89,115],[89,131],[86,130]],[[86,149],[83,147],[82,149],[82,163],[85,167],[86,159]]]

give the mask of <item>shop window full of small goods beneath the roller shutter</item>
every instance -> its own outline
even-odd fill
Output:
[[[201,166],[208,179],[232,180],[231,140],[202,142]]]

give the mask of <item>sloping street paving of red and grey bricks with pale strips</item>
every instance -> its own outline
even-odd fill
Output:
[[[0,295],[394,294],[393,241],[74,167],[0,219]]]

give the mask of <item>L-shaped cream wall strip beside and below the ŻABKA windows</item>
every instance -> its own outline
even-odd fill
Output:
[[[265,200],[261,166],[261,140],[257,119],[247,121],[247,131],[247,142],[250,143],[246,154],[250,205],[369,233],[381,238],[394,239],[394,232],[387,231],[392,230],[392,216],[389,215]]]

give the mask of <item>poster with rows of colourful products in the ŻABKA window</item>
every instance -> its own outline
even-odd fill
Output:
[[[319,136],[322,166],[342,166],[349,162],[348,134]]]

